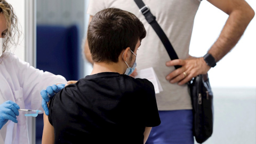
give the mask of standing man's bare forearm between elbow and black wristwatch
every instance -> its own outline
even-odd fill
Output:
[[[208,53],[217,62],[221,60],[237,44],[253,17],[254,11],[250,6],[230,12],[219,38]]]

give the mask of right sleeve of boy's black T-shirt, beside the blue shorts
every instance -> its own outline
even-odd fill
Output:
[[[144,108],[145,108],[145,124],[147,127],[158,126],[161,121],[158,114],[158,108],[156,103],[156,93],[154,85],[147,79],[143,79],[143,86],[145,90]]]

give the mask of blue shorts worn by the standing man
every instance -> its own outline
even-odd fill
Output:
[[[194,144],[192,110],[159,111],[161,124],[152,127],[146,144]]]

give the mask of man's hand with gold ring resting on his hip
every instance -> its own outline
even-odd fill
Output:
[[[181,67],[172,71],[166,76],[166,79],[172,84],[178,82],[179,85],[187,83],[197,75],[206,74],[211,68],[206,64],[204,58],[190,57],[186,60],[177,59],[166,62],[166,66],[169,67],[176,65]]]

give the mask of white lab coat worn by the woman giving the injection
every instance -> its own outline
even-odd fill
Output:
[[[12,53],[3,53],[0,62],[0,104],[11,100],[17,103],[20,109],[43,111],[41,90],[45,90],[49,85],[67,83],[64,77],[35,69]],[[2,127],[1,144],[29,143],[27,117],[24,114],[24,111],[19,111],[17,124],[8,121]]]

